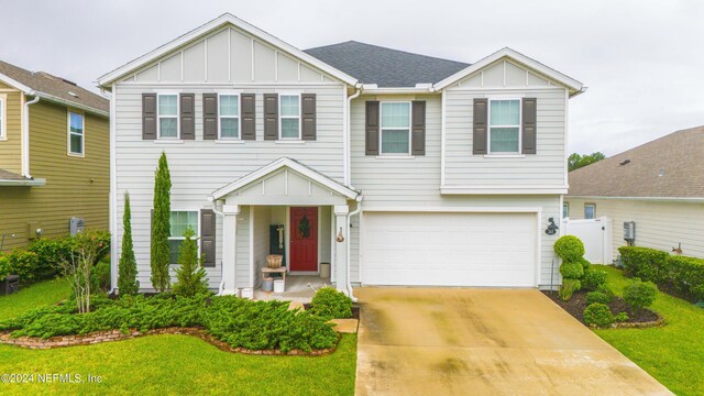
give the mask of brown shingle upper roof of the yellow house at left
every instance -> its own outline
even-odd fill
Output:
[[[0,61],[0,74],[35,91],[102,112],[110,111],[110,101],[108,99],[48,73],[30,72]],[[75,96],[72,94],[75,94]]]

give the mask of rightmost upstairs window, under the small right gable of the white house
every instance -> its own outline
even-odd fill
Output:
[[[488,153],[518,154],[520,152],[520,100],[490,100]]]

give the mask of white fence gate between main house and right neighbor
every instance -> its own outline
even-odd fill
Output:
[[[562,226],[565,235],[582,240],[586,260],[594,264],[612,264],[612,222],[607,218],[564,219]]]

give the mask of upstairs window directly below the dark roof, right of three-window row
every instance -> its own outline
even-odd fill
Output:
[[[410,155],[410,102],[381,105],[381,154]]]

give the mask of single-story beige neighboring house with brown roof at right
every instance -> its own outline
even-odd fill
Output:
[[[570,173],[564,197],[570,219],[606,217],[613,257],[626,245],[624,222],[636,224],[635,245],[704,257],[704,127],[671,133]]]

